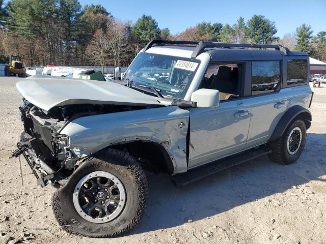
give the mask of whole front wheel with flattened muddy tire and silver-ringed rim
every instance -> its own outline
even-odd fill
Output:
[[[107,149],[77,168],[53,195],[52,209],[68,233],[111,237],[138,224],[147,194],[140,165],[120,150]]]

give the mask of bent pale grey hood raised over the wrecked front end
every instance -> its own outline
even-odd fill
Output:
[[[36,75],[17,82],[16,87],[26,100],[47,111],[69,104],[165,106],[155,97],[113,82]]]

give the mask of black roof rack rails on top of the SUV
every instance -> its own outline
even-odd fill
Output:
[[[188,41],[169,41],[169,40],[151,40],[144,48],[144,52],[153,44],[181,44],[181,45],[197,45],[192,53],[192,58],[196,58],[204,52],[205,48],[273,48],[283,52],[285,55],[290,54],[290,50],[281,44],[250,44],[250,43],[229,43],[229,42],[188,42]]]

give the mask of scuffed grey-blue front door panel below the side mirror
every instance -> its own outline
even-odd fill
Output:
[[[227,100],[216,108],[190,110],[188,168],[243,150],[251,117],[243,109],[243,100]]]

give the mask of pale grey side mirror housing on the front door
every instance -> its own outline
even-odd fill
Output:
[[[191,100],[197,102],[197,107],[215,108],[220,104],[220,91],[199,89],[193,92]]]

